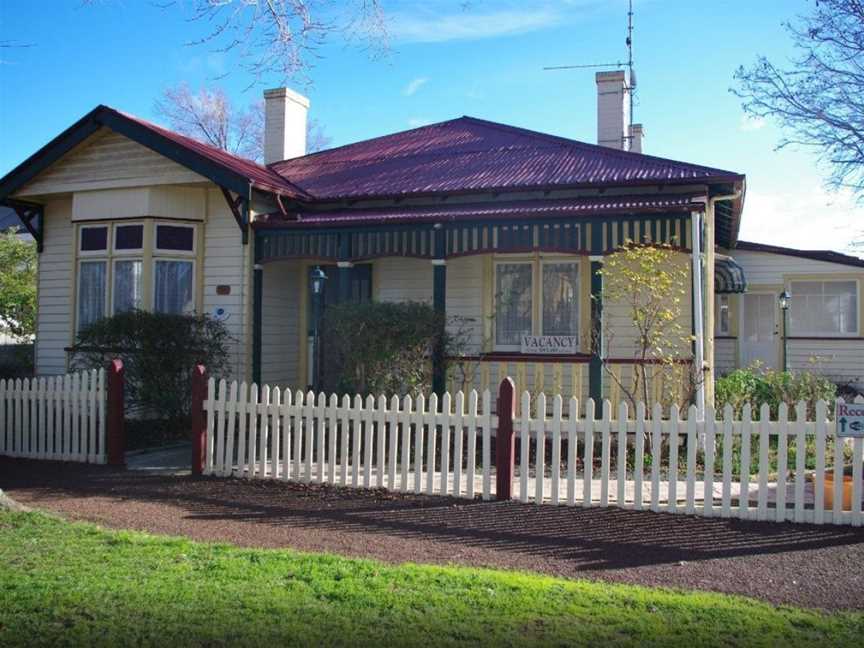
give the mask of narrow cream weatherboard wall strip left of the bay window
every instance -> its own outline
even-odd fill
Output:
[[[45,240],[39,255],[36,321],[36,373],[66,372],[64,349],[72,341],[74,294],[72,200],[45,205]]]

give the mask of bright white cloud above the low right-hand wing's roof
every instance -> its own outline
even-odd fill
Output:
[[[830,193],[818,185],[781,192],[748,191],[740,238],[804,250],[852,249],[864,238],[864,206],[849,191]]]

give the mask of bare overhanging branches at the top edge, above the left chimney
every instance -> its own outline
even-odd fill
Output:
[[[95,5],[101,0],[84,0]],[[203,35],[187,44],[237,54],[251,85],[266,78],[305,78],[331,37],[358,44],[373,56],[388,51],[381,0],[166,0],[165,11],[186,10]]]

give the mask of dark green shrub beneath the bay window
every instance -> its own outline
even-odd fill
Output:
[[[224,374],[230,339],[222,322],[205,315],[119,313],[78,334],[71,368],[104,367],[119,357],[127,412],[178,421],[189,415],[192,368],[201,363],[211,376]]]

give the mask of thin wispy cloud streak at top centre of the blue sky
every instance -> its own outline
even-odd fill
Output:
[[[502,9],[485,13],[397,13],[391,19],[390,34],[397,42],[443,43],[524,34],[551,27],[559,21],[559,14],[545,7]]]

